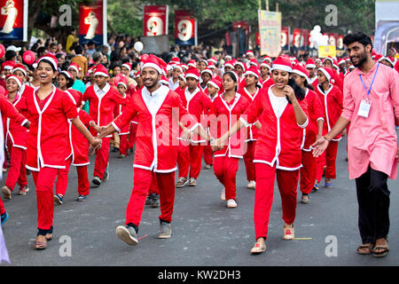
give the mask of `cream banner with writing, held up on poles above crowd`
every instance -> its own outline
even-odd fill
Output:
[[[278,57],[281,51],[281,12],[258,10],[261,54]]]

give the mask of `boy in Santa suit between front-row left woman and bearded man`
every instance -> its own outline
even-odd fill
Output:
[[[90,103],[89,114],[91,120],[98,127],[106,126],[113,121],[115,108],[119,105],[125,105],[126,99],[114,88],[111,87],[106,80],[109,78],[106,67],[99,64],[94,71],[94,79],[96,83],[84,92],[83,101],[88,100]],[[98,130],[91,127],[90,132],[93,136],[98,135]],[[102,146],[96,151],[96,161],[94,163],[93,180],[94,185],[101,185],[109,178],[108,159],[109,145],[113,135],[108,135],[103,139]]]

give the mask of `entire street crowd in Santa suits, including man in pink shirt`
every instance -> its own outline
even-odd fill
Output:
[[[250,251],[262,253],[275,178],[283,239],[293,240],[298,185],[303,204],[323,177],[332,188],[338,144],[348,135],[349,176],[356,178],[360,207],[357,251],[387,255],[387,177],[395,178],[397,170],[395,50],[377,54],[363,33],[345,37],[348,58],[304,61],[254,51],[238,59],[194,51],[156,56],[139,54],[132,43],[111,38],[101,47],[82,46],[73,32],[65,51],[54,39],[35,43],[32,65],[20,48],[7,47],[0,106],[9,164],[4,161],[2,193],[12,199],[18,184],[16,194],[27,194],[32,175],[36,249],[52,238],[54,204],[64,202],[70,166],[78,174],[77,201],[86,201],[90,152],[96,155],[91,182],[100,186],[110,180],[109,153],[115,151],[121,159],[135,155],[126,222],[116,228],[122,241],[137,245],[145,205],[160,207],[158,237],[171,237],[175,189],[200,183],[202,160],[213,168],[226,207],[239,206],[236,177],[243,159],[247,188],[254,190],[256,242]],[[9,215],[1,199],[0,215],[4,225]]]

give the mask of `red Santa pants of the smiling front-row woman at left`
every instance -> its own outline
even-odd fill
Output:
[[[54,217],[53,187],[58,174],[59,169],[47,167],[32,171],[36,186],[37,228],[39,230],[51,230]]]

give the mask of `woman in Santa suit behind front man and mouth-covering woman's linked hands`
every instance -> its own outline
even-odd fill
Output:
[[[209,131],[213,138],[220,138],[228,132],[249,106],[249,101],[237,92],[238,85],[239,76],[234,71],[223,74],[224,92],[215,98],[208,116]],[[245,140],[246,130],[243,129],[215,151],[215,176],[223,185],[221,199],[227,201],[227,208],[237,207],[236,175],[239,159],[243,158],[246,151]]]

